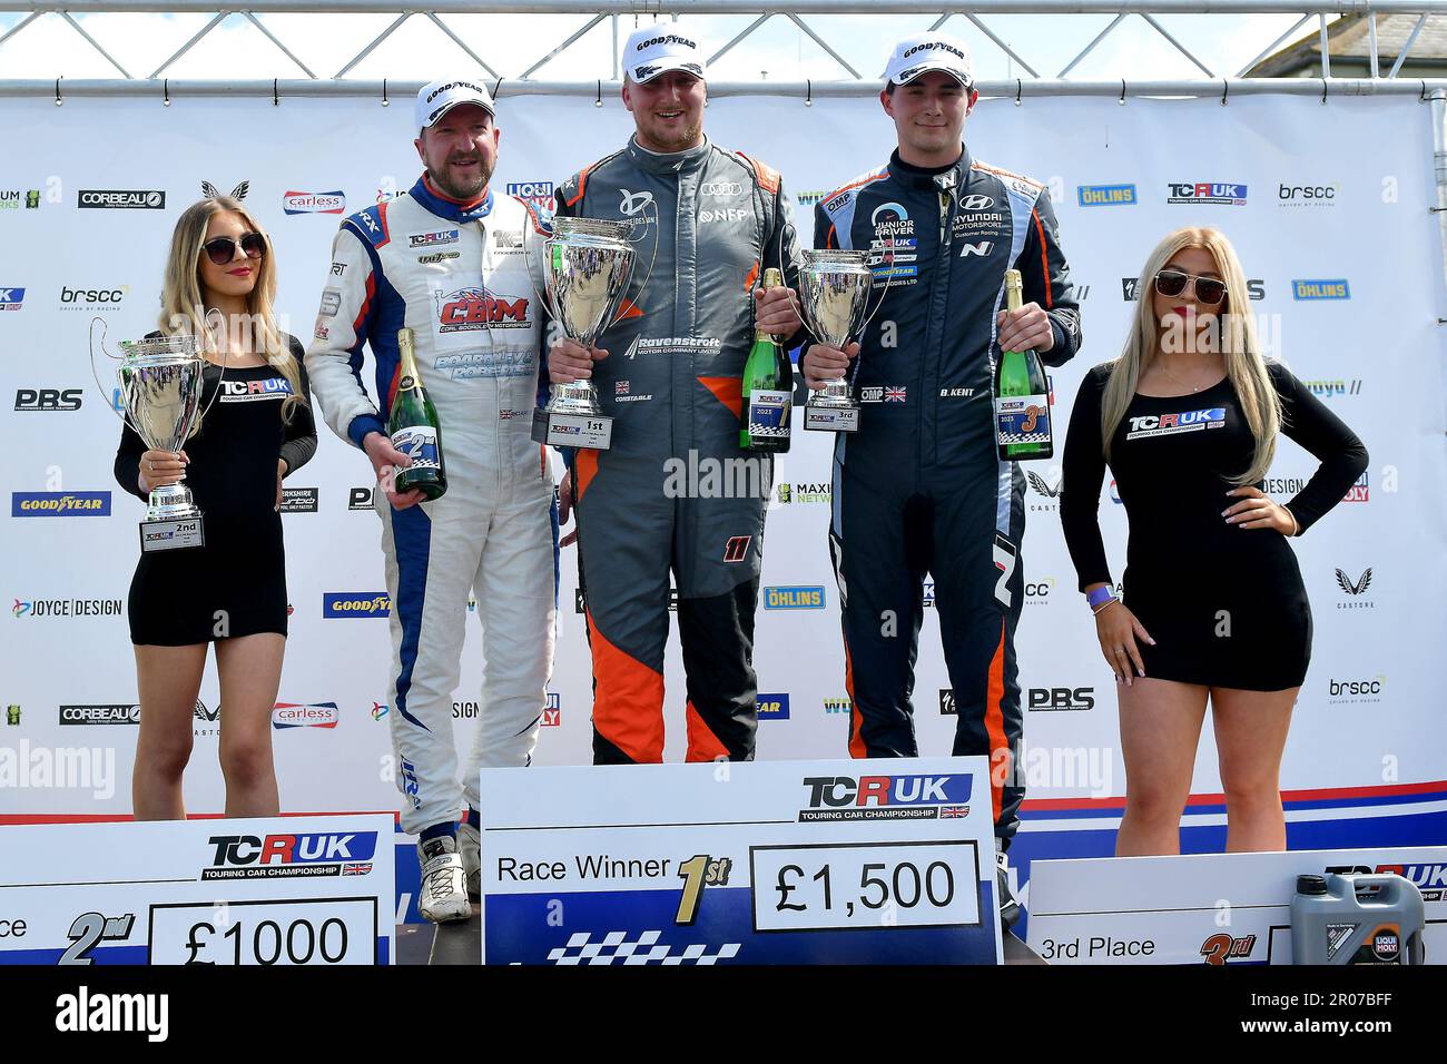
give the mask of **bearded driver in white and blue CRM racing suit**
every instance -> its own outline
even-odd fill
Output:
[[[470,915],[467,889],[478,892],[478,767],[528,764],[537,743],[553,666],[557,525],[546,455],[528,436],[543,317],[522,256],[531,216],[488,185],[492,97],[467,80],[434,81],[418,94],[415,126],[427,171],[410,193],[341,223],[307,371],[327,424],[378,473],[402,829],[420,837],[423,915],[451,921]],[[415,334],[441,423],[447,494],[431,502],[398,495],[389,479],[410,463],[386,431],[402,327]],[[362,384],[363,343],[376,363],[375,405]],[[451,699],[469,591],[486,660],[482,721],[459,785]]]

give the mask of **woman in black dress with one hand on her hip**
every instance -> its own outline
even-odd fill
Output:
[[[1246,275],[1215,229],[1152,252],[1121,356],[1087,373],[1065,440],[1061,521],[1116,673],[1126,815],[1116,853],[1179,853],[1211,705],[1230,851],[1283,850],[1281,759],[1311,657],[1288,537],[1366,469],[1362,442],[1262,358]],[[1321,465],[1281,504],[1262,492],[1279,434]],[[1106,463],[1130,521],[1124,601],[1097,523]]]

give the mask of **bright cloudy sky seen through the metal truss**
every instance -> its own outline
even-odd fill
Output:
[[[23,19],[0,16],[0,33]],[[336,77],[350,59],[394,20],[391,14],[260,14],[258,16],[311,71]],[[460,14],[444,22],[504,78],[522,75],[589,16],[582,14]],[[635,22],[654,16],[621,16],[621,38]],[[713,51],[722,48],[755,16],[708,16],[690,25]],[[810,16],[809,26],[865,78],[884,68],[893,41],[929,29],[938,16]],[[1113,16],[1108,14],[998,14],[984,17],[1040,77],[1055,78]],[[1158,16],[1215,77],[1234,77],[1272,41],[1289,29],[1295,14],[1165,14]],[[205,14],[82,14],[82,25],[136,78],[150,77],[210,20]],[[1315,32],[1315,20],[1295,35]],[[954,16],[945,30],[962,38],[975,56],[975,77],[1004,80],[1023,71],[964,16]],[[425,16],[414,14],[349,78],[428,81],[441,72],[476,69],[473,61]],[[187,52],[164,77],[171,78],[304,78],[291,59],[240,14],[230,16]],[[612,75],[612,36],[605,19],[569,49],[532,74],[537,80],[590,81]],[[122,77],[58,14],[45,14],[0,45],[0,80],[9,78],[119,78]],[[710,71],[713,80],[816,81],[852,75],[784,16],[774,16],[737,45]],[[1129,16],[1069,74],[1071,80],[1145,81],[1204,78],[1205,75],[1140,16]]]

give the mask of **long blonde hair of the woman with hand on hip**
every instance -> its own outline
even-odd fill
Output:
[[[1110,442],[1126,417],[1126,408],[1136,395],[1142,373],[1150,368],[1160,353],[1159,323],[1155,313],[1155,276],[1185,248],[1201,248],[1215,259],[1215,269],[1226,281],[1226,300],[1217,318],[1220,323],[1220,349],[1226,356],[1226,375],[1236,388],[1242,402],[1246,424],[1256,440],[1256,453],[1250,465],[1230,484],[1256,484],[1270,469],[1276,456],[1276,434],[1281,431],[1281,397],[1272,387],[1256,337],[1256,320],[1250,311],[1246,288],[1246,274],[1236,256],[1236,249],[1220,229],[1210,226],[1185,226],[1156,245],[1146,259],[1145,269],[1136,281],[1136,318],[1120,358],[1110,365],[1110,378],[1100,404],[1101,442],[1106,459],[1110,460]]]

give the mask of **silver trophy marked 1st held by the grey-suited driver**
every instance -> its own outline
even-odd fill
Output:
[[[541,295],[567,339],[592,347],[614,323],[637,252],[632,227],[602,219],[553,219],[543,242]],[[532,439],[553,447],[608,450],[614,420],[602,413],[592,381],[554,384],[547,407],[532,414]]]

